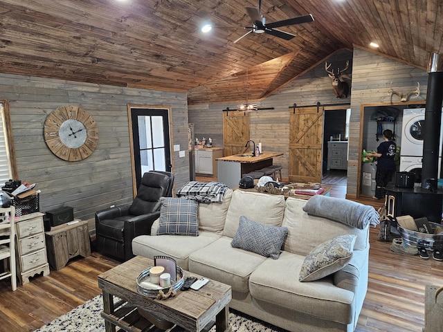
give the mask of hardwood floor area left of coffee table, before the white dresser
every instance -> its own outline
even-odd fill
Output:
[[[0,282],[0,331],[34,331],[42,325],[101,293],[97,276],[118,264],[93,252],[74,259],[61,270],[36,276],[29,284],[10,291],[10,283]],[[80,331],[70,331],[80,332]]]

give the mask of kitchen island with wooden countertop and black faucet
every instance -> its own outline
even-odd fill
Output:
[[[257,171],[273,165],[273,158],[282,156],[280,152],[263,152],[260,156],[252,154],[234,154],[217,158],[217,181],[230,188],[237,187],[242,174]]]

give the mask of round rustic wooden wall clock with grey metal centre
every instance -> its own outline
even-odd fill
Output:
[[[44,140],[55,156],[68,161],[83,160],[97,147],[97,123],[81,106],[62,106],[46,118]]]

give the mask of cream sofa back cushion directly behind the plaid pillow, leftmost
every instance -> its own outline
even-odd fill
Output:
[[[226,190],[221,203],[199,204],[199,230],[223,233],[226,213],[232,196],[233,190]]]

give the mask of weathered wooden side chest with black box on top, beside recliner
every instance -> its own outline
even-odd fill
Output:
[[[53,270],[64,268],[73,257],[91,255],[87,221],[55,226],[45,232],[45,237],[48,262]]]

